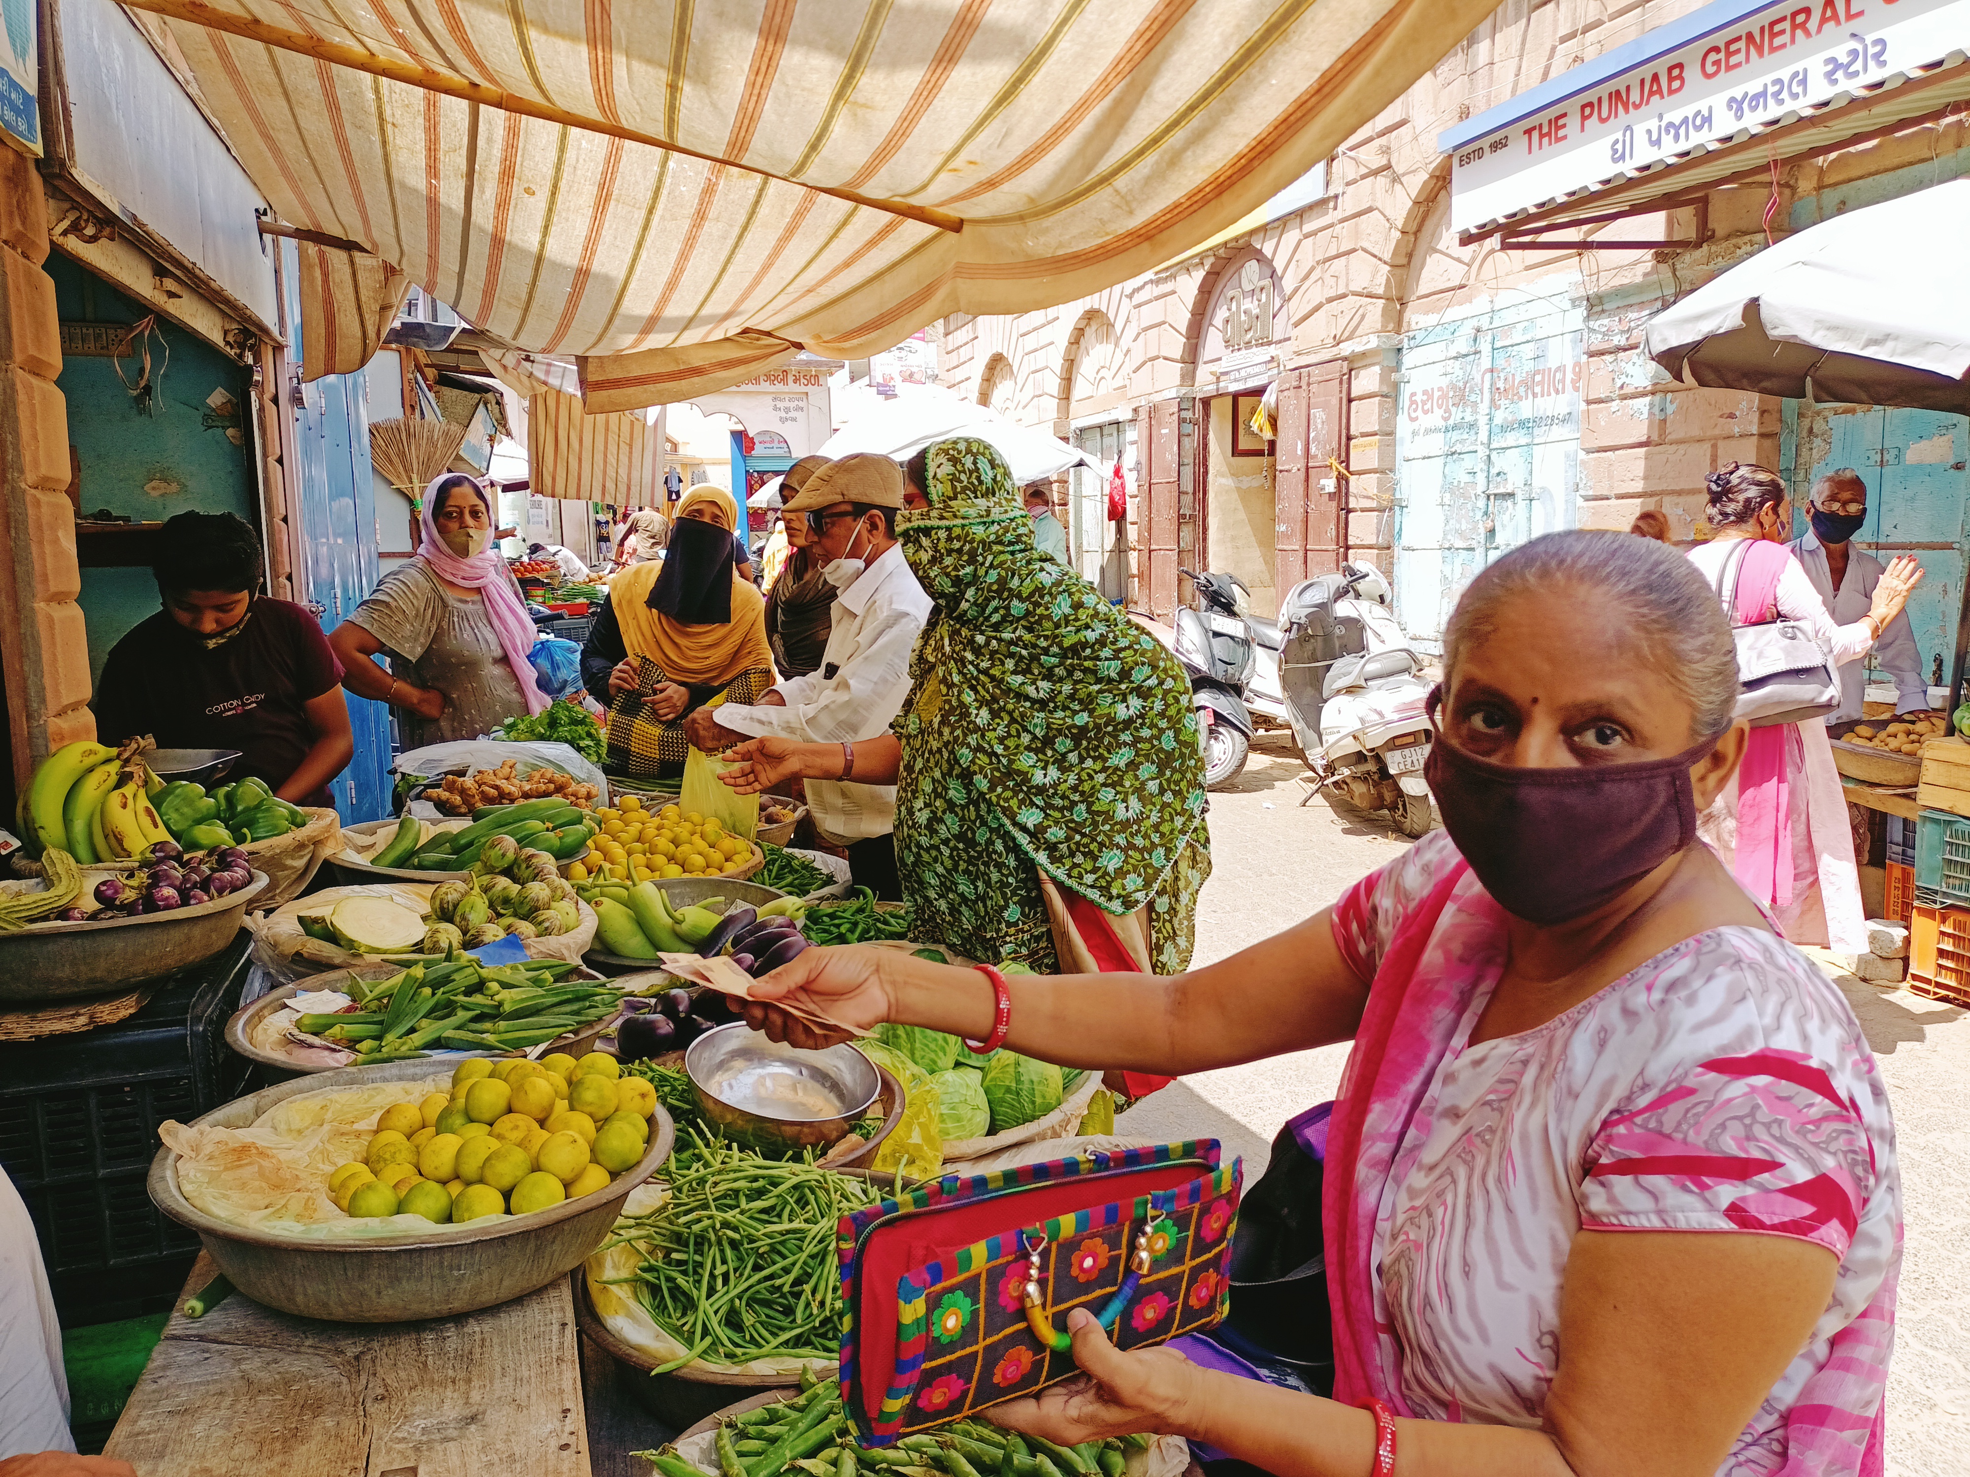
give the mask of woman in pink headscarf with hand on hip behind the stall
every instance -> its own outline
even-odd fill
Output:
[[[396,709],[404,748],[479,738],[548,705],[528,662],[534,622],[492,547],[485,490],[457,473],[437,477],[420,524],[418,557],[329,634],[343,685]],[[378,652],[390,654],[388,672],[370,660]]]

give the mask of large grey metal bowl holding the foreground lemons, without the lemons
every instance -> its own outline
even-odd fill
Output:
[[[244,1128],[297,1093],[420,1081],[433,1075],[431,1067],[431,1061],[386,1061],[325,1071],[234,1099],[191,1126]],[[437,1069],[443,1071],[443,1065]],[[158,1150],[152,1160],[148,1188],[158,1209],[191,1227],[219,1270],[254,1302],[331,1323],[406,1323],[492,1308],[567,1276],[609,1239],[628,1191],[670,1156],[674,1132],[670,1115],[658,1105],[648,1150],[607,1189],[532,1215],[489,1221],[485,1229],[467,1223],[361,1241],[250,1231],[215,1219],[185,1199],[177,1188],[177,1154],[169,1148]]]

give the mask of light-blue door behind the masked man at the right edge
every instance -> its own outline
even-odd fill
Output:
[[[1860,410],[1805,406],[1799,433],[1806,441],[1801,465],[1810,467],[1797,488],[1799,530],[1806,496],[1830,471],[1852,467],[1868,484],[1868,522],[1854,542],[1887,563],[1897,553],[1921,561],[1925,579],[1909,601],[1909,626],[1933,677],[1937,656],[1948,681],[1956,652],[1956,622],[1964,597],[1964,536],[1970,518],[1970,419],[1940,410]],[[1872,668],[1872,658],[1870,668]],[[1887,681],[1870,670],[1870,681]]]

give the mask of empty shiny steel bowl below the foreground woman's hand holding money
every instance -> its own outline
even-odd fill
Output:
[[[869,1117],[883,1091],[853,1046],[802,1052],[735,1020],[684,1052],[697,1107],[727,1138],[764,1152],[827,1148]]]

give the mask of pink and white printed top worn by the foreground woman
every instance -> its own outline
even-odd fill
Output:
[[[1436,831],[1340,900],[1334,935],[1363,979],[1460,863]],[[1470,1046],[1503,949],[1503,912],[1466,872],[1405,996],[1405,1014],[1456,1024],[1407,1123],[1383,1117],[1397,1140],[1371,1266],[1389,1388],[1422,1418],[1537,1428],[1576,1231],[1799,1237],[1840,1258],[1832,1302],[1720,1473],[1879,1471],[1901,1182],[1846,998],[1781,937],[1718,928]]]

